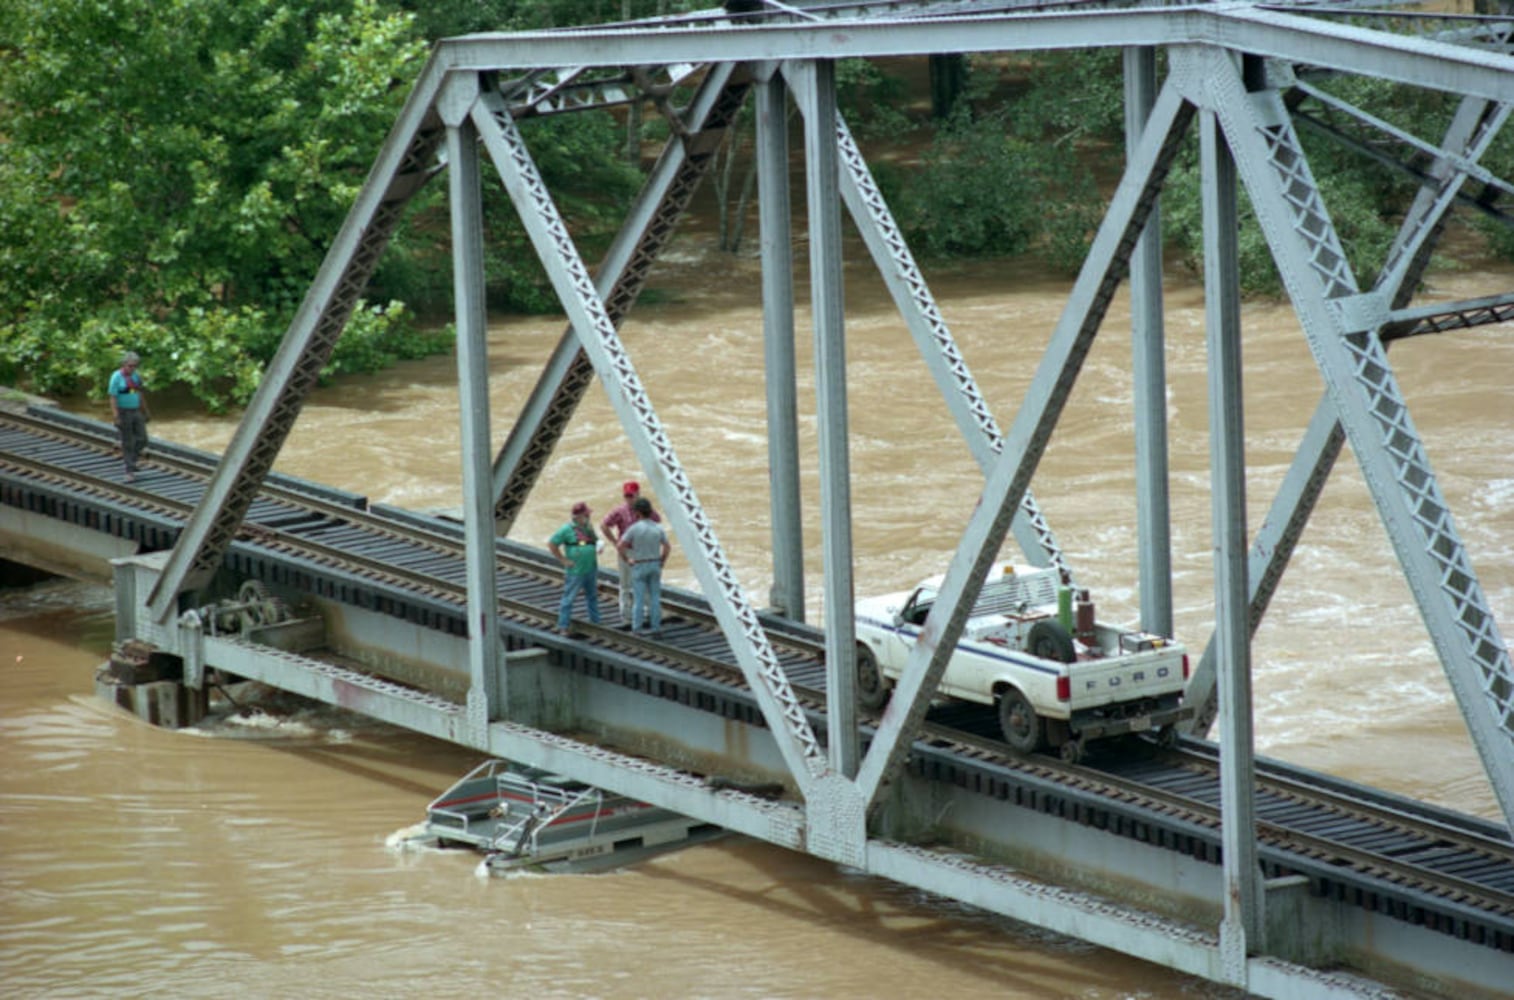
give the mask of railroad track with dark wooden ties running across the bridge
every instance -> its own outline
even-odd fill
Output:
[[[109,427],[77,418],[0,410],[0,483],[26,480],[183,523],[215,467],[203,452],[156,445],[133,484],[117,481]],[[462,526],[398,510],[369,508],[362,498],[269,477],[238,543],[360,578],[395,593],[466,607]],[[575,623],[574,640],[551,634],[562,576],[545,552],[500,540],[500,617],[547,646],[616,654],[689,678],[745,691],[746,682],[715,616],[698,595],[665,590],[662,640],[613,625]],[[601,581],[606,585],[607,581]],[[612,604],[613,608],[613,604]],[[612,611],[613,614],[613,611]],[[824,637],[784,619],[765,617],[769,640],[796,697],[824,719]],[[993,769],[1014,781],[1039,781],[1095,796],[1110,808],[1143,811],[1210,831],[1219,838],[1219,761],[1198,741],[1161,750],[1143,740],[1105,747],[1086,764],[1022,756],[996,738],[992,710],[952,703],[933,711],[919,735],[931,752]],[[872,729],[878,717],[861,713]],[[1111,753],[1119,749],[1119,753]],[[1302,779],[1302,772],[1260,762],[1257,837],[1273,868],[1352,871],[1373,884],[1514,920],[1514,844],[1494,825],[1447,823],[1417,803],[1367,800],[1344,782]],[[1514,941],[1509,949],[1514,950]]]

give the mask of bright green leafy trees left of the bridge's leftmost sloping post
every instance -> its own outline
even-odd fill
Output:
[[[0,377],[247,398],[425,56],[377,0],[14,0]],[[403,315],[403,313],[401,313]]]

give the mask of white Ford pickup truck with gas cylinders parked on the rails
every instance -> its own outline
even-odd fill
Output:
[[[1076,761],[1089,740],[1157,731],[1176,738],[1187,651],[1167,638],[1095,622],[1086,590],[1063,593],[1055,569],[990,573],[942,675],[940,694],[998,705],[1005,741],[1051,746]],[[857,697],[883,708],[942,578],[857,602]]]

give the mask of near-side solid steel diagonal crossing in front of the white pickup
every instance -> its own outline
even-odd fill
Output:
[[[983,496],[967,520],[961,543],[942,581],[936,605],[884,710],[883,723],[863,758],[857,784],[872,808],[878,793],[904,762],[931,694],[957,646],[974,601],[1004,543],[1010,520],[1030,487],[1036,466],[1061,418],[1083,362],[1093,346],[1114,289],[1151,216],[1179,141],[1193,120],[1188,104],[1169,82],[1152,106],[1146,130],[1131,151],[1125,174],[1093,238],[1057,328],[1042,356],[1031,387],[995,460]]]

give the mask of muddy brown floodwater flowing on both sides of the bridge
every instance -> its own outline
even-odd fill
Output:
[[[1425,300],[1511,286],[1434,275]],[[1013,421],[1066,284],[1014,263],[931,272],[963,354]],[[875,275],[849,266],[858,593],[940,572],[981,477]],[[742,582],[768,592],[768,455],[752,259],[675,244],[631,357]],[[801,277],[801,286],[804,284]],[[1201,289],[1167,281],[1178,635],[1213,625]],[[808,614],[821,620],[808,316],[799,316]],[[1291,312],[1245,310],[1249,519],[1270,502],[1320,378]],[[562,319],[491,330],[497,440]],[[1123,298],[1036,478],[1099,616],[1139,608]],[[151,375],[150,345],[138,345]],[[1514,620],[1514,337],[1484,328],[1391,354],[1505,634]],[[103,360],[107,365],[109,360]],[[106,416],[103,404],[68,402]],[[235,418],[157,401],[154,436],[220,449]],[[454,362],[313,393],[277,469],[409,508],[460,502]],[[580,407],[513,537],[544,543],[640,478],[606,395]],[[693,585],[675,549],[669,581]],[[598,876],[486,879],[465,853],[389,840],[477,755],[326,708],[148,728],[91,696],[103,587],[0,593],[0,994],[500,997],[1225,997],[1231,991],[762,843],[725,840]],[[1254,648],[1263,753],[1485,817],[1497,803],[1349,451]]]

